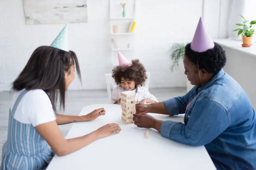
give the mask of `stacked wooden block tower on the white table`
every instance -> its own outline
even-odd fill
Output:
[[[124,122],[125,124],[134,123],[132,118],[133,114],[136,113],[135,93],[132,91],[122,92],[120,104],[122,108],[122,122]]]

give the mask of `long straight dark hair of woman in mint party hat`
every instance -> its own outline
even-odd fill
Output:
[[[25,68],[13,82],[12,89],[20,91],[42,89],[49,96],[52,108],[56,112],[56,101],[65,109],[65,77],[64,71],[70,73],[70,66],[75,64],[81,82],[81,73],[76,53],[63,51],[58,48],[41,46],[35,49]]]

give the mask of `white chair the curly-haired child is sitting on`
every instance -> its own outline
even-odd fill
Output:
[[[150,73],[146,73],[146,75],[148,78],[143,84],[143,87],[148,89]],[[116,83],[115,83],[115,80],[112,78],[112,74],[105,74],[105,80],[106,80],[107,91],[108,91],[108,102],[111,103],[111,89],[116,87]]]

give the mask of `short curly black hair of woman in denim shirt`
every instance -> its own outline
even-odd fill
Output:
[[[218,43],[215,43],[214,48],[205,52],[195,52],[190,48],[191,43],[188,43],[185,47],[185,55],[198,66],[199,69],[205,69],[208,73],[216,74],[226,64],[227,58],[225,51]]]

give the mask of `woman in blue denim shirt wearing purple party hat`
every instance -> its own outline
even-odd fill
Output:
[[[204,30],[201,20],[200,25],[199,30]],[[204,145],[218,170],[256,170],[256,118],[250,99],[222,69],[226,55],[221,46],[204,42],[209,37],[200,38],[195,45],[195,36],[186,45],[183,58],[185,74],[195,87],[184,96],[137,104],[134,124],[154,128],[176,142]],[[185,124],[157,120],[146,113],[185,113]]]

